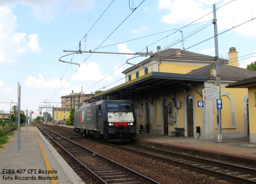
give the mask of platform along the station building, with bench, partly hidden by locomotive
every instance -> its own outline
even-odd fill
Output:
[[[73,126],[55,125],[73,129]],[[221,145],[217,139],[204,140],[190,137],[175,137],[137,133],[133,138],[135,143],[149,145],[157,149],[185,152],[193,156],[225,160],[234,164],[256,166],[256,144],[250,144],[249,137],[222,139]]]

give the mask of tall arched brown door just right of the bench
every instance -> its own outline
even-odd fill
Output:
[[[193,99],[190,95],[187,99],[187,133],[188,137],[194,137]]]

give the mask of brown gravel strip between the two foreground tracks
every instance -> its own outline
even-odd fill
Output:
[[[127,151],[122,151],[88,139],[73,139],[72,141],[163,184],[234,183],[232,181],[220,180],[210,175],[139,156]]]

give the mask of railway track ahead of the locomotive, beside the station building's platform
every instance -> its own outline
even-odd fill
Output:
[[[108,144],[108,143],[106,143]],[[197,158],[179,153],[169,151],[162,151],[154,148],[138,146],[134,144],[128,145],[113,145],[122,150],[136,153],[148,158],[153,158],[177,166],[182,166],[201,173],[206,173],[225,180],[234,181],[237,183],[255,184],[256,183],[256,169],[236,166],[223,162],[208,160],[204,158]]]

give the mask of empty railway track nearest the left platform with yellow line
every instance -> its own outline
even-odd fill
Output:
[[[60,136],[53,131],[40,126],[37,126],[45,135],[59,136],[60,139],[52,139],[63,151],[71,158],[85,168],[85,170],[99,183],[115,183],[115,184],[160,184],[140,173],[122,166],[82,145],[79,145],[63,136]],[[87,166],[85,166],[85,164]]]

